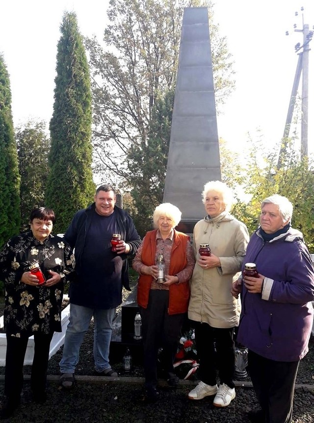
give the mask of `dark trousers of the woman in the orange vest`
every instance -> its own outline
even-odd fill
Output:
[[[144,344],[145,386],[157,386],[157,356],[162,347],[162,365],[173,373],[184,313],[168,314],[169,291],[151,289],[147,309],[140,309]]]

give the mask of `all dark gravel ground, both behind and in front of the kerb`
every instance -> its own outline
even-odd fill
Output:
[[[77,375],[93,375],[92,348],[93,323],[81,346]],[[181,381],[179,387],[173,389],[162,380],[157,403],[146,404],[142,401],[142,379],[131,378],[143,376],[141,364],[133,360],[135,363],[131,373],[125,374],[122,364],[116,362],[114,357],[110,358],[111,364],[121,376],[120,380],[103,377],[96,378],[96,381],[78,380],[73,390],[65,391],[59,389],[57,378],[53,378],[53,375],[59,375],[61,356],[62,347],[49,362],[48,375],[51,377],[47,387],[47,403],[37,405],[31,402],[29,381],[26,380],[21,408],[10,422],[245,423],[248,422],[247,411],[258,406],[252,388],[237,387],[236,398],[230,406],[217,408],[212,405],[213,397],[201,401],[187,399],[191,384],[194,386],[193,381]],[[30,367],[25,366],[24,372],[29,374]],[[4,367],[0,367],[1,374],[4,374]],[[296,383],[314,384],[314,337],[310,340],[309,353],[300,362]],[[0,381],[0,394],[3,395],[3,380]],[[314,422],[314,389],[299,387],[295,391],[293,423],[310,422]]]

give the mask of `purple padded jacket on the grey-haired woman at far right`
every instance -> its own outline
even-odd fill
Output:
[[[259,229],[248,244],[245,263],[265,277],[262,293],[242,284],[237,340],[262,357],[297,361],[308,352],[313,324],[314,270],[302,233],[288,232],[265,242]]]

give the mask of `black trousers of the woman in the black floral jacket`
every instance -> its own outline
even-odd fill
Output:
[[[50,342],[53,332],[34,334],[34,359],[31,367],[30,387],[33,394],[41,395],[46,390],[47,367]],[[6,336],[4,395],[20,400],[23,389],[23,364],[28,338]]]

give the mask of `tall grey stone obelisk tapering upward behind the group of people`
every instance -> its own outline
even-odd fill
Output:
[[[220,159],[207,7],[183,13],[164,202],[182,211],[179,229],[192,232],[204,217],[201,193],[220,180]]]

